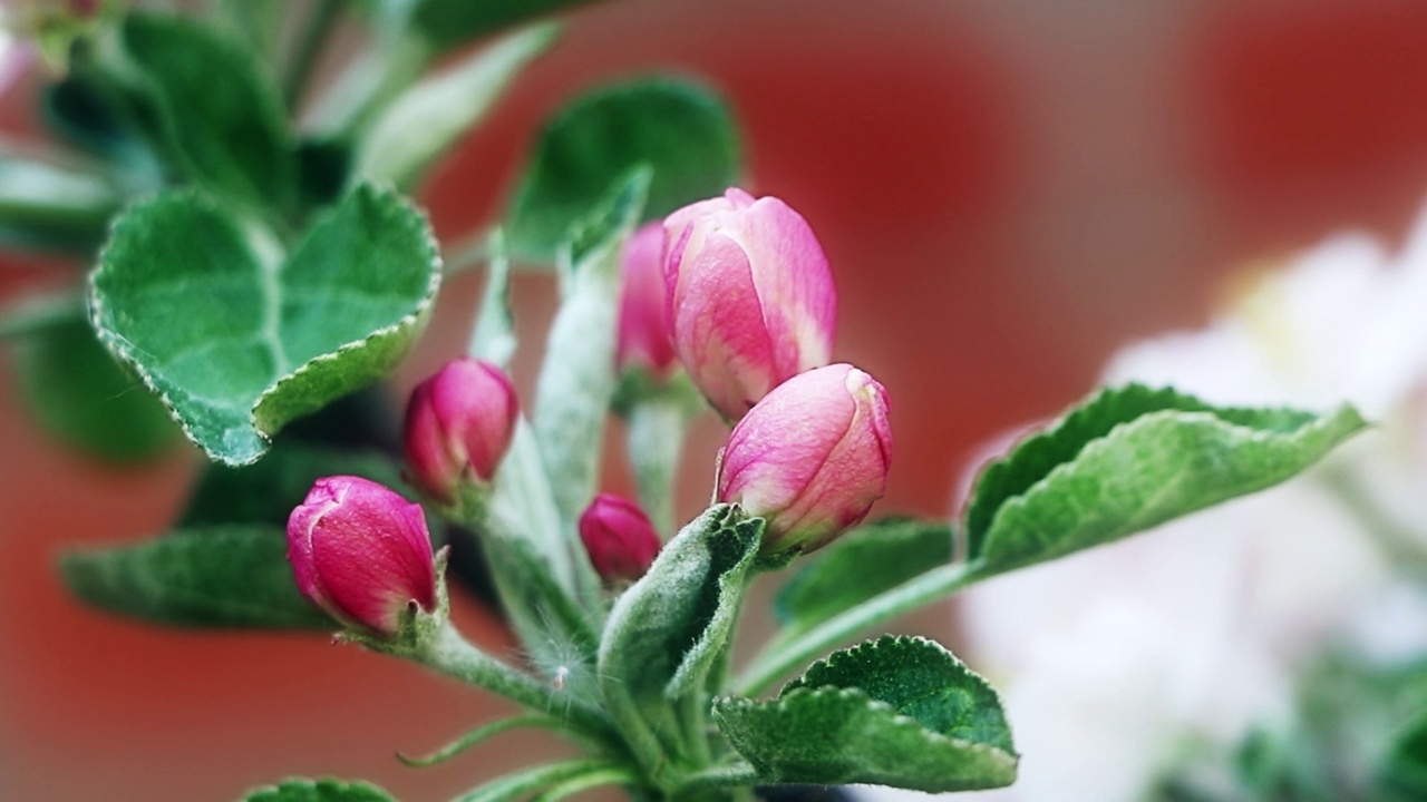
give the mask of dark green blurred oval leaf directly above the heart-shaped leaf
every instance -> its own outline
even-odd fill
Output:
[[[124,54],[184,168],[254,205],[293,197],[287,113],[268,73],[227,30],[177,14],[130,13]]]

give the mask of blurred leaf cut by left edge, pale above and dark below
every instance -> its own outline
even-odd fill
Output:
[[[0,154],[0,241],[90,254],[120,207],[104,178]]]

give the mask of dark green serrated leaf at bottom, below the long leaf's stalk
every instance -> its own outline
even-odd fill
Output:
[[[925,638],[885,636],[835,652],[778,699],[716,699],[714,721],[761,783],[939,793],[1016,781],[996,691]]]

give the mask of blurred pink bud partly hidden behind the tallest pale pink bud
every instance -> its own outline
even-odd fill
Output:
[[[678,361],[665,323],[662,255],[664,225],[658,223],[639,228],[625,243],[615,350],[621,371],[639,367],[655,378],[668,378]]]

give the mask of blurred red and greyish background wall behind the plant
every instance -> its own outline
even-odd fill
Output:
[[[1117,342],[1202,321],[1230,270],[1346,225],[1398,237],[1427,194],[1424,44],[1411,0],[614,0],[569,16],[424,201],[455,237],[495,214],[564,97],[656,68],[709,78],[745,124],[752,188],[801,210],[832,258],[838,358],[893,395],[880,509],[945,515],[977,441],[1089,391]],[[9,128],[30,101],[4,97]],[[6,257],[0,293],[56,270]],[[447,287],[401,382],[459,348],[477,290]],[[549,283],[524,277],[517,297],[529,387]],[[78,606],[54,557],[161,531],[198,458],[90,464],[34,430],[0,361],[6,802],[230,799],[291,773],[441,799],[554,748],[515,734],[404,769],[394,749],[497,705],[320,638],[167,632]],[[704,421],[689,447],[686,514],[719,438]],[[508,646],[485,612],[458,612]]]

